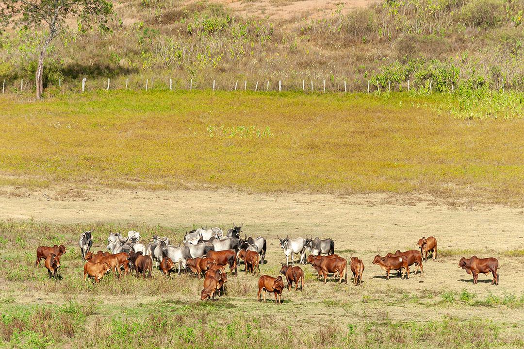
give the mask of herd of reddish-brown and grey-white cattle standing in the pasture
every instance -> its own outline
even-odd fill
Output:
[[[214,299],[215,295],[221,296],[225,291],[227,282],[226,267],[231,275],[238,274],[238,265],[241,260],[244,264],[244,272],[260,274],[260,264],[264,264],[267,250],[266,238],[241,237],[242,225],[233,225],[224,235],[219,227],[198,228],[191,232],[186,232],[178,246],[170,245],[167,236],[159,237],[154,235],[150,242],[145,245],[140,242],[140,233],[129,231],[127,236],[120,233],[110,234],[107,238],[106,248],[111,251],[90,251],[93,245],[92,230],[80,234],[78,245],[82,254],[84,264],[84,281],[90,277],[95,282],[114,272],[118,277],[126,276],[133,270],[136,276],[140,274],[145,278],[151,277],[152,269],[159,268],[162,273],[169,276],[174,269],[178,274],[182,271],[192,272],[196,277],[204,278],[203,289],[200,299]],[[335,254],[335,243],[332,239],[320,239],[319,237],[305,238],[298,237],[290,239],[288,236],[279,239],[279,246],[286,256],[286,263],[282,263],[280,273],[287,280],[287,288],[293,287],[297,291],[304,289],[304,271],[299,266],[294,266],[294,255],[299,255],[300,264],[309,263],[318,273],[318,278],[327,282],[329,274],[333,278],[347,283],[346,259]],[[373,264],[378,265],[386,271],[386,279],[389,279],[391,270],[396,270],[401,274],[401,278],[409,278],[410,267],[414,265],[415,271],[420,269],[423,274],[422,261],[428,260],[428,253],[436,259],[436,239],[433,236],[422,237],[417,245],[419,249],[412,249],[406,252],[397,250],[395,253],[388,253],[384,257],[376,255]],[[306,257],[306,251],[311,254]],[[45,267],[48,270],[49,278],[57,277],[60,267],[60,256],[65,254],[64,245],[54,245],[52,247],[40,246],[37,248],[37,259],[35,266],[40,264],[40,260],[45,260]],[[289,257],[291,264],[289,265]],[[362,274],[364,263],[357,257],[351,257],[349,267],[353,273],[355,286],[362,284]],[[492,272],[492,285],[498,285],[498,260],[496,258],[477,258],[473,256],[469,259],[462,257],[459,261],[459,268],[463,268],[468,274],[473,275],[473,283],[477,283],[478,274],[488,274]],[[257,299],[261,297],[266,300],[266,292],[274,293],[275,302],[281,303],[282,290],[285,288],[283,277],[278,275],[272,277],[262,275],[258,280]]]

